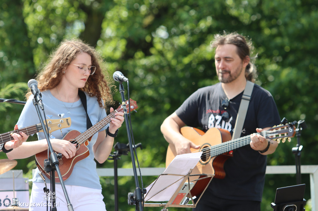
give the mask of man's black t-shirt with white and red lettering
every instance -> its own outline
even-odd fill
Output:
[[[229,100],[226,111],[228,121],[222,119],[225,108],[221,102],[226,98],[221,83],[198,89],[176,110],[179,118],[188,126],[206,132],[215,127],[233,134],[236,116],[243,92]],[[256,128],[280,124],[280,116],[274,99],[267,90],[254,85],[245,117],[241,137],[256,132]],[[266,156],[245,145],[234,151],[224,169],[224,179],[213,178],[209,189],[218,197],[233,200],[261,201],[265,182]]]

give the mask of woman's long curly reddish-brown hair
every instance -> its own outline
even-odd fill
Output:
[[[45,91],[56,87],[68,65],[78,54],[83,52],[91,56],[92,66],[96,67],[96,71],[88,77],[85,86],[80,90],[89,93],[90,96],[96,96],[100,107],[103,107],[103,101],[112,101],[110,88],[107,86],[107,81],[102,73],[103,60],[93,47],[78,38],[63,40],[52,52],[45,66],[36,77],[38,89]],[[25,96],[28,98],[30,95],[31,89],[28,89]]]

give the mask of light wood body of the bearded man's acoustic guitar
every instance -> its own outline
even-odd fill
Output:
[[[192,128],[182,127],[180,130],[183,137],[189,139],[196,145],[200,145],[200,149],[191,148],[191,152],[202,151],[201,159],[196,167],[192,170],[191,175],[194,174],[214,174],[215,178],[223,179],[225,177],[224,163],[232,157],[231,153],[224,153],[219,156],[211,157],[211,146],[224,143],[231,140],[232,136],[229,131],[218,128],[211,128],[206,133],[203,131]],[[176,157],[176,149],[173,144],[169,144],[166,156],[166,167]],[[202,176],[201,176],[202,177]],[[190,180],[198,179],[199,176],[191,176]],[[194,186],[191,189],[192,196],[200,195],[205,187],[208,185],[210,178],[194,181]]]

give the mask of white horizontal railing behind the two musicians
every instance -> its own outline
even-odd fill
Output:
[[[142,176],[159,176],[165,168],[141,168]],[[138,171],[139,172],[139,171]],[[114,176],[114,169],[97,169],[99,176]],[[295,174],[295,166],[267,166],[266,174]],[[310,197],[312,211],[318,211],[318,165],[302,165],[301,174],[310,175]],[[117,169],[118,176],[134,176],[133,169]]]

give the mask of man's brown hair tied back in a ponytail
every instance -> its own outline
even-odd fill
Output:
[[[225,44],[233,44],[237,46],[237,54],[243,60],[246,56],[250,57],[250,62],[245,68],[245,78],[252,82],[255,82],[257,78],[257,71],[254,65],[254,61],[257,58],[257,54],[255,56],[251,56],[253,53],[254,47],[252,45],[252,41],[246,38],[243,35],[238,34],[237,32],[232,32],[227,34],[226,32],[221,34],[214,35],[214,40],[211,41],[211,48],[217,48],[219,45]]]

